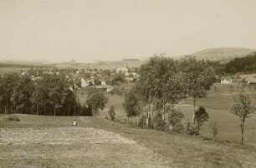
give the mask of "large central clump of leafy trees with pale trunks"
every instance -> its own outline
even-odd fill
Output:
[[[159,123],[165,125],[166,113],[169,127],[175,127],[170,116],[181,118],[182,115],[174,110],[174,105],[192,96],[196,107],[197,100],[206,96],[207,90],[216,80],[209,62],[197,61],[190,56],[180,60],[173,60],[164,54],[151,57],[141,66],[139,73],[136,85],[125,95],[124,106],[128,117],[137,116],[139,124],[139,118],[143,116],[145,126],[151,128],[159,127]],[[195,108],[194,114],[196,111]],[[194,116],[192,121],[196,121]],[[154,117],[158,117],[158,124],[154,123],[154,120],[157,121]]]

